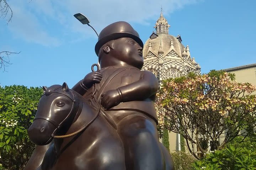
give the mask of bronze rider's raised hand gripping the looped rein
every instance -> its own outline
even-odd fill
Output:
[[[102,77],[103,75],[100,72],[91,72],[85,76],[82,83],[90,89],[93,84],[100,83]]]

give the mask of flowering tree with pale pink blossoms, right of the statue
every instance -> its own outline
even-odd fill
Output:
[[[160,127],[181,134],[188,150],[200,159],[198,152],[219,150],[238,135],[255,135],[255,90],[223,71],[168,79],[156,103],[163,111]]]

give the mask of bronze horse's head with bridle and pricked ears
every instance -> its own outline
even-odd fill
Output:
[[[80,103],[66,83],[43,87],[36,116],[28,129],[30,140],[36,145],[47,145],[55,135],[65,134],[73,123]]]

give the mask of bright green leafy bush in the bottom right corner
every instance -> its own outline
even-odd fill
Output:
[[[209,153],[193,163],[195,170],[255,170],[256,152],[246,148],[228,148]]]

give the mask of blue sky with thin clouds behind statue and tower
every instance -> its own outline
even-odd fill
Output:
[[[171,35],[183,45],[202,73],[256,63],[255,0],[9,0],[13,18],[0,18],[0,51],[10,56],[0,85],[73,87],[97,63],[97,36],[73,15],[81,12],[99,33],[108,24],[127,21],[145,42],[163,8]]]

